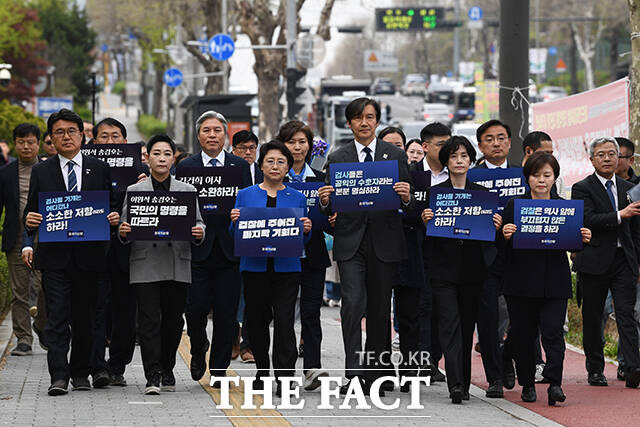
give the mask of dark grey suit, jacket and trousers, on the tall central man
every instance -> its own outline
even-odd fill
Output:
[[[407,155],[404,150],[384,141],[376,141],[374,161],[396,160],[400,181],[411,183]],[[331,180],[333,163],[358,162],[355,142],[331,153],[327,161],[327,184]],[[415,197],[403,205],[405,211],[413,209]],[[331,204],[322,208],[331,213]],[[369,367],[392,368],[388,360],[380,356],[391,348],[389,313],[391,287],[397,271],[397,263],[407,258],[407,245],[398,210],[339,212],[334,229],[333,257],[338,262],[342,279],[342,339],[345,348],[347,378],[364,375],[361,360],[361,320],[367,316],[367,341],[365,350],[370,352]],[[368,357],[367,356],[367,357]],[[381,363],[388,364],[381,366]],[[385,371],[367,371],[367,379],[373,380]]]

